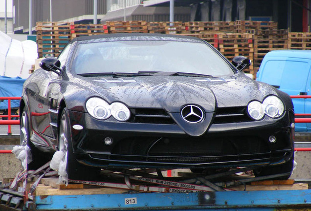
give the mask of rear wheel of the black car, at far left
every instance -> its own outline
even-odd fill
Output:
[[[26,109],[22,109],[21,121],[20,121],[20,145],[27,145],[30,148],[32,155],[32,162],[27,164],[27,170],[36,170],[49,161],[46,155],[37,149],[30,141],[31,129],[29,127],[29,118]]]

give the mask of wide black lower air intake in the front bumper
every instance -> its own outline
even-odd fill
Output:
[[[217,163],[266,159],[270,149],[258,137],[132,137],[121,140],[110,157],[141,162]]]

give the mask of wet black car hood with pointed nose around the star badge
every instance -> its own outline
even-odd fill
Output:
[[[185,76],[85,77],[91,89],[108,103],[122,102],[130,108],[162,108],[187,134],[202,135],[217,107],[246,106],[252,100],[263,101],[275,89],[256,82],[243,73],[228,78]],[[180,115],[185,105],[197,105],[205,112],[198,124],[187,123]]]

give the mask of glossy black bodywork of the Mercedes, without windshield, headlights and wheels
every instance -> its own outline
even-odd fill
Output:
[[[57,126],[62,109],[67,107],[74,154],[79,162],[89,166],[237,167],[274,165],[289,160],[293,153],[291,124],[294,122],[290,97],[268,84],[246,77],[225,58],[223,62],[231,65],[234,72],[233,76],[226,78],[155,75],[133,77],[127,81],[129,78],[83,77],[70,69],[71,59],[80,42],[103,42],[105,39],[148,40],[154,36],[164,40],[184,38],[147,34],[82,37],[68,44],[67,54],[60,55],[60,64],[58,60],[45,59],[43,69],[36,70],[24,83],[21,100],[21,107],[25,105],[30,115],[30,127],[33,129],[30,140],[35,146],[47,152],[57,150]],[[187,39],[203,42],[197,38]],[[215,53],[220,54],[216,50]],[[243,59],[240,62],[245,61]],[[61,67],[61,71],[46,71],[52,64]],[[262,102],[268,95],[282,99],[286,107],[283,116],[278,119],[266,116],[260,121],[248,117],[245,110],[247,104],[252,100]],[[93,96],[100,97],[109,104],[124,103],[131,110],[131,119],[121,123],[113,117],[104,121],[91,117],[86,110],[86,101]],[[202,122],[191,124],[181,118],[181,108],[189,104],[203,109],[205,116]],[[141,110],[165,114],[166,117],[159,120],[153,116],[143,119],[134,115]],[[242,119],[234,115],[223,118],[223,115],[230,114],[228,110],[241,111]],[[74,125],[80,125],[83,129],[74,129]],[[276,136],[278,141],[269,143],[270,135]],[[104,144],[106,137],[112,138],[111,145]],[[259,147],[252,146],[253,139],[257,140]],[[178,140],[183,145],[179,152],[176,149]],[[212,140],[210,144],[209,140]],[[238,140],[245,140],[245,143]],[[221,142],[219,146],[215,144],[218,141]],[[145,146],[145,142],[150,145]],[[200,150],[196,148],[196,142],[200,144]],[[225,148],[228,144],[228,148],[235,148],[234,152]],[[187,145],[194,151],[188,150]],[[137,149],[137,146],[141,148]],[[177,151],[172,154],[162,146]],[[253,147],[258,147],[258,150],[249,150]],[[182,159],[187,156],[188,160]],[[169,161],[161,159],[163,157],[167,157]]]

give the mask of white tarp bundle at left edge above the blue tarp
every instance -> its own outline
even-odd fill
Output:
[[[28,78],[38,57],[37,43],[11,39],[0,31],[0,75]]]

